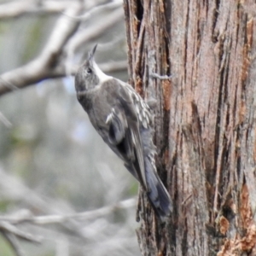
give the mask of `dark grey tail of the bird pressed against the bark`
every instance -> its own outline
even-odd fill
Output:
[[[160,177],[155,172],[154,163],[148,157],[144,159],[148,183],[148,200],[154,212],[162,219],[172,212],[172,201]]]

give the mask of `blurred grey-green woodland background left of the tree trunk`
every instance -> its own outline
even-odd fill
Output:
[[[72,2],[0,1],[0,75],[37,59],[63,16],[79,20],[61,54],[63,75],[24,89],[11,84],[0,97],[1,256],[140,255],[137,182],[90,125],[73,78],[97,43],[100,67],[128,80],[122,1],[78,1],[80,15],[67,15]],[[76,212],[86,218],[55,221]]]

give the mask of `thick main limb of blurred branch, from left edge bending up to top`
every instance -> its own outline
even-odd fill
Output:
[[[79,15],[80,11],[81,5],[73,4],[73,8],[68,9],[67,14]],[[55,67],[58,64],[63,46],[67,44],[67,40],[77,30],[78,26],[78,20],[72,20],[66,15],[62,15],[57,20],[55,29],[42,54],[37,59],[23,67],[2,74],[0,77],[0,95],[9,92],[12,87],[21,89],[42,79],[55,77]]]

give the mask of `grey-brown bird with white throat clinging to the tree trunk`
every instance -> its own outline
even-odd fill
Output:
[[[172,212],[172,201],[156,171],[154,115],[136,90],[103,73],[94,55],[97,44],[75,74],[77,99],[103,141],[123,160],[143,187],[161,220]]]

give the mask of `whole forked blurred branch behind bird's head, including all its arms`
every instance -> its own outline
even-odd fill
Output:
[[[119,1],[115,1],[113,6],[117,4],[119,4]],[[71,38],[79,26],[79,19],[73,19],[73,17],[79,15],[80,11],[81,6],[79,4],[73,4],[72,9],[68,9],[64,15],[61,15],[60,19],[57,20],[55,24],[55,29],[48,43],[37,59],[27,63],[23,67],[18,67],[15,70],[3,73],[0,76],[0,96],[11,90],[18,90],[36,84],[43,79],[55,79],[66,75],[73,75],[76,73],[77,67],[67,67],[67,65],[63,64],[64,61],[60,61],[63,55],[63,49],[65,48],[67,51],[66,63],[68,63],[68,59],[73,58],[73,52],[76,49],[90,39],[98,37],[102,32],[110,26],[113,26],[123,17],[123,11],[119,8],[112,14],[107,15],[106,19],[99,20],[95,26]],[[71,40],[69,42],[70,38]],[[65,45],[66,47],[64,47]],[[125,61],[103,64],[102,66],[105,72],[126,69]]]

